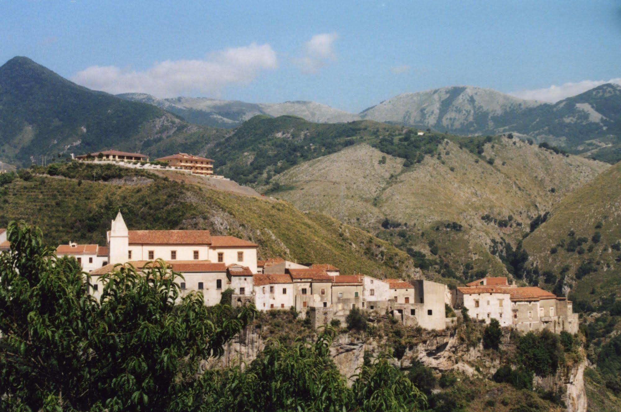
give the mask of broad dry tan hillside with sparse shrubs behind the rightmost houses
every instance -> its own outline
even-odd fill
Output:
[[[394,244],[414,246],[428,256],[428,242],[433,240],[439,256],[455,270],[473,262],[475,271],[501,274],[504,266],[489,253],[492,239],[515,244],[528,233],[533,217],[609,167],[508,138],[484,146],[483,156],[495,159],[492,165],[467,150],[465,141],[454,140],[440,146],[440,158],[425,156],[409,168],[402,167],[404,159],[368,145],[351,146],[275,176],[286,190],[274,195],[377,232]],[[483,222],[484,214],[497,219],[512,215],[513,222],[499,228]],[[379,224],[386,217],[408,224],[406,240],[398,236],[403,226],[382,230]],[[450,222],[460,223],[463,230],[446,230],[444,223]]]

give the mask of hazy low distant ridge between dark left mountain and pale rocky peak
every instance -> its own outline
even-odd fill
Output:
[[[247,103],[209,99],[207,97],[173,97],[158,99],[144,93],[125,93],[118,97],[129,101],[153,104],[180,115],[188,122],[212,127],[237,127],[256,115],[278,117],[294,115],[317,123],[338,123],[360,120],[360,116],[325,104],[311,101],[283,103]]]

